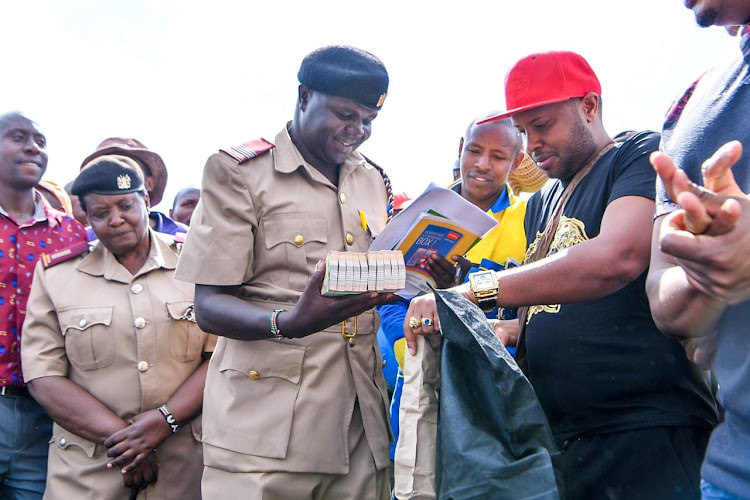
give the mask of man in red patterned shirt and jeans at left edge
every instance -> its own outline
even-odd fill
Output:
[[[35,187],[47,169],[47,139],[20,113],[0,115],[0,497],[41,498],[52,420],[29,395],[21,339],[34,265],[86,248],[86,232]]]

